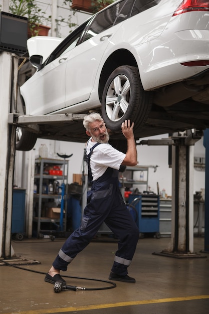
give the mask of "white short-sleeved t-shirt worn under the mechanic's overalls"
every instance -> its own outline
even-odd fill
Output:
[[[91,138],[88,141],[86,153],[90,153],[91,147],[93,147],[96,142],[93,142]],[[97,145],[90,158],[90,167],[92,172],[93,181],[100,178],[108,167],[119,170],[122,164],[125,154],[115,148],[110,144],[100,144]]]

